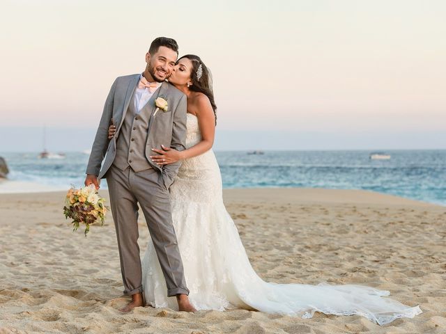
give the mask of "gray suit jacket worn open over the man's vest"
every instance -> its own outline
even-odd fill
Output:
[[[127,113],[128,105],[139,82],[139,76],[140,74],[132,74],[118,77],[114,81],[105,101],[104,111],[102,111],[98,131],[91,148],[86,174],[98,175],[98,179],[101,179],[110,166],[112,166],[116,154],[116,139],[119,136],[125,113]],[[167,83],[167,81],[162,83],[154,95],[167,100],[169,108],[167,112],[158,110],[156,117],[153,117],[156,109],[155,104],[153,104],[148,124],[146,158],[155,170],[159,170],[162,173],[164,184],[169,187],[174,181],[181,162],[158,166],[149,157],[156,154],[151,148],[161,149],[161,144],[178,151],[185,150],[187,100],[185,94]],[[148,103],[151,102],[149,101]],[[114,118],[117,129],[114,138],[109,140],[107,138],[108,128],[112,118]],[[105,161],[101,168],[104,157]]]

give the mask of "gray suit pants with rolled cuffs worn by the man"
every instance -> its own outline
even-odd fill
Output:
[[[146,218],[167,285],[167,295],[189,294],[171,217],[169,191],[155,169],[135,173],[112,165],[107,174],[110,204],[118,239],[124,294],[143,291],[138,246],[138,205]]]

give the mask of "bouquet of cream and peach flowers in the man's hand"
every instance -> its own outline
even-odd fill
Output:
[[[94,184],[76,189],[72,186],[68,190],[66,205],[63,207],[65,218],[72,218],[73,231],[79,228],[81,223],[85,224],[85,236],[90,230],[90,225],[101,223],[104,225],[105,199],[98,195]]]

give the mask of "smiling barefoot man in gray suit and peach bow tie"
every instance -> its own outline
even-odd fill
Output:
[[[187,297],[189,290],[170,211],[169,186],[180,164],[160,167],[148,159],[153,154],[151,149],[160,148],[161,143],[170,143],[176,150],[185,149],[186,96],[165,81],[177,58],[175,40],[156,38],[146,54],[144,73],[114,81],[86,168],[87,186],[94,184],[98,189],[98,179],[107,178],[124,294],[132,296],[123,312],[144,305],[137,242],[138,203],[160,260],[168,296],[176,296],[180,311],[194,312]],[[159,103],[163,100],[167,107]],[[116,125],[116,134],[109,141],[111,123]]]

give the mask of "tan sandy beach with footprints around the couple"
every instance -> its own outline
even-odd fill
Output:
[[[108,198],[105,190],[101,195]],[[62,214],[64,196],[0,193],[0,333],[446,333],[446,207],[366,191],[224,191],[264,280],[369,285],[423,311],[381,327],[317,313],[301,319],[146,307],[123,315],[117,309],[128,297],[112,215],[87,238],[73,233]],[[143,255],[142,215],[139,228]]]

